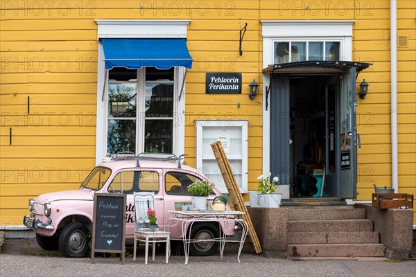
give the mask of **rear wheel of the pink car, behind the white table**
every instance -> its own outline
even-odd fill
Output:
[[[211,223],[200,223],[192,226],[192,240],[212,240],[220,235],[218,227]],[[211,256],[218,250],[219,243],[214,241],[193,242],[189,245],[191,256]]]

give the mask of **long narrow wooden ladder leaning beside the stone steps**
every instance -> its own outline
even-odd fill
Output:
[[[223,145],[221,145],[220,141],[216,141],[215,143],[211,144],[211,148],[214,152],[214,156],[217,160],[221,174],[223,175],[225,186],[227,186],[227,190],[229,196],[232,199],[232,203],[234,204],[234,208],[236,209],[236,211],[241,211],[244,213],[242,217],[248,225],[247,241],[250,245],[250,249],[252,252],[256,252],[257,254],[261,253],[262,250],[259,238],[257,238],[257,233],[254,230],[250,215],[247,211],[247,207],[244,204],[244,199],[243,195],[241,195],[239,184],[237,184],[236,177],[233,174],[231,166],[229,166],[229,162],[227,156],[225,155]]]

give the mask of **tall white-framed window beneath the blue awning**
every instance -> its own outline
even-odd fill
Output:
[[[190,20],[96,19],[96,164],[117,152],[184,153],[184,66],[105,70],[101,39],[186,39]]]

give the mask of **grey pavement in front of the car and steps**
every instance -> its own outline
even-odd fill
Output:
[[[127,247],[132,252],[132,245]],[[184,256],[171,256],[164,263],[163,251],[154,261],[144,265],[143,249],[138,258],[97,257],[94,264],[89,258],[63,258],[59,251],[44,251],[33,238],[6,239],[0,255],[0,276],[415,276],[416,261],[392,262],[385,260],[313,260],[293,261],[264,258],[243,249],[239,263],[236,247],[226,247],[223,259],[217,256],[190,257],[184,265]]]

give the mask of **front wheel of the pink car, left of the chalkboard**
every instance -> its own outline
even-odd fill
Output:
[[[87,256],[89,250],[88,229],[80,223],[70,223],[64,226],[59,236],[59,250],[67,258]]]

